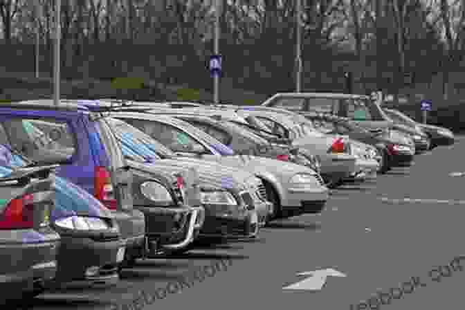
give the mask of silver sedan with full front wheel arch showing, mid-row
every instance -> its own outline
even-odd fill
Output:
[[[319,174],[308,167],[271,158],[238,156],[205,131],[183,120],[157,116],[156,112],[116,112],[114,116],[156,138],[185,160],[204,158],[253,172],[264,184],[266,200],[273,203],[273,218],[318,213],[325,206],[328,189]]]

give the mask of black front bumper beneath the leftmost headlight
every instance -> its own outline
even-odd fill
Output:
[[[123,250],[120,250],[121,248],[125,249],[125,242],[119,238],[95,241],[89,237],[62,235],[62,245],[57,257],[58,270],[55,282],[117,280],[118,264],[122,262],[120,253]],[[91,267],[98,267],[98,272],[86,275],[86,270]]]

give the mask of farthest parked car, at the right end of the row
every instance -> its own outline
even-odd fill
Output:
[[[415,122],[412,118],[395,109],[383,109],[383,111],[385,111],[390,118],[402,122],[405,126],[415,127],[418,131],[424,131],[428,135],[428,138],[430,138],[429,149],[439,145],[454,144],[454,134],[447,128]]]

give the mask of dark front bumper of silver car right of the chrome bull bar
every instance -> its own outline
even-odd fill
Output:
[[[244,215],[206,214],[199,237],[221,237],[227,239],[255,237],[259,222],[256,210],[248,210]]]

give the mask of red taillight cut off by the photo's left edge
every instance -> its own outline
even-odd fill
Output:
[[[12,199],[0,215],[0,229],[26,229],[34,227],[34,196],[24,195]]]

